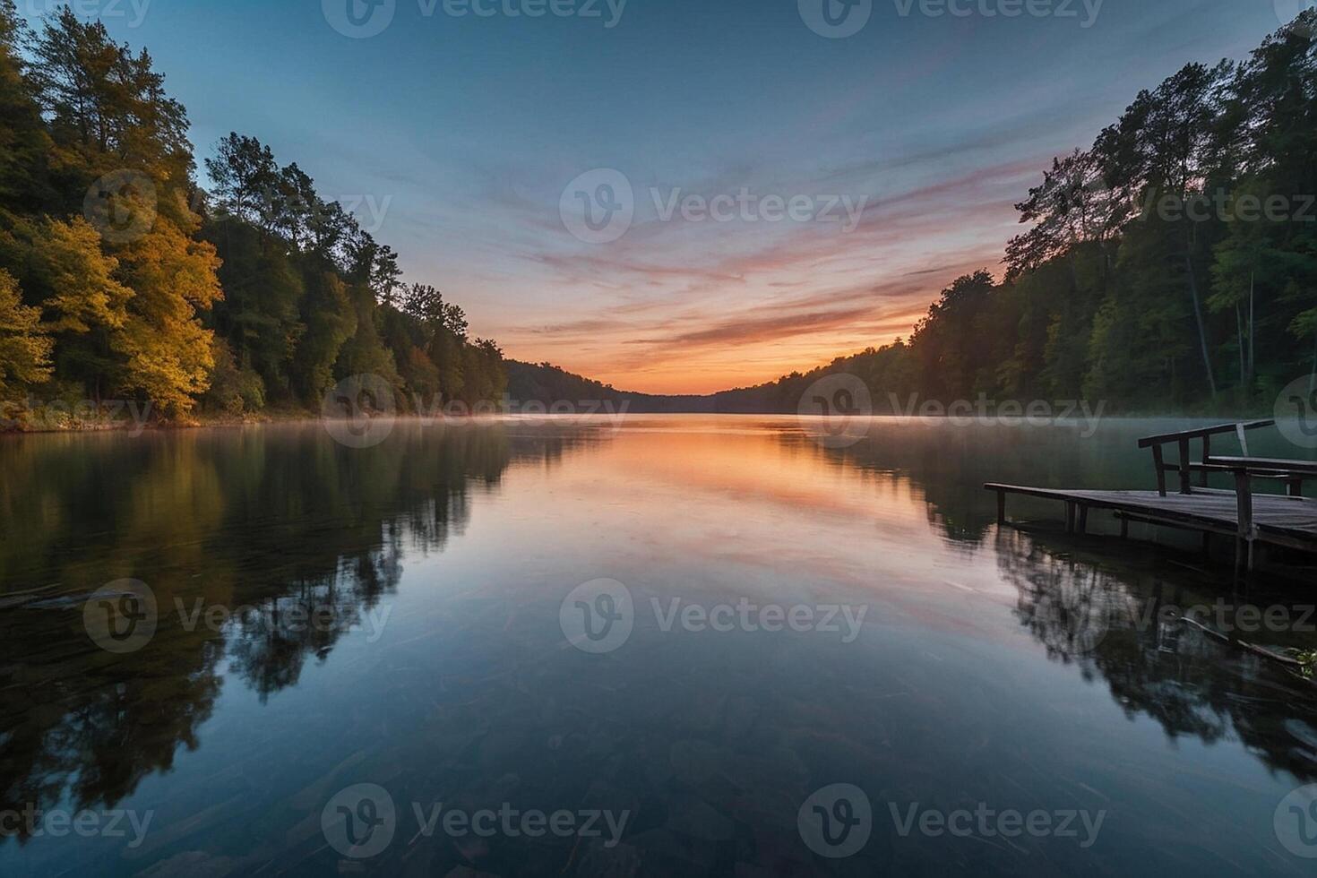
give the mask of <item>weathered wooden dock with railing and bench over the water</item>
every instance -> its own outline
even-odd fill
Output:
[[[1006,496],[1011,494],[1060,500],[1065,503],[1065,530],[1084,533],[1089,509],[1112,509],[1121,520],[1121,536],[1129,536],[1130,521],[1196,530],[1204,534],[1204,545],[1212,534],[1231,537],[1238,545],[1238,565],[1255,563],[1255,545],[1274,545],[1317,553],[1317,500],[1303,496],[1306,480],[1317,479],[1317,463],[1312,461],[1283,461],[1274,458],[1216,457],[1210,454],[1210,436],[1238,433],[1247,454],[1245,430],[1268,426],[1271,421],[1250,424],[1222,424],[1141,440],[1141,448],[1152,448],[1156,491],[1092,491],[1071,488],[1042,488],[988,482],[989,491],[997,492],[997,521],[1006,523]],[[1202,458],[1189,458],[1189,440],[1202,441]],[[1175,465],[1163,461],[1162,445],[1175,444],[1180,459]],[[1180,492],[1168,494],[1166,473],[1177,473]],[[1193,473],[1200,484],[1191,482]],[[1205,487],[1209,473],[1229,474],[1235,488],[1225,491]],[[1254,479],[1272,479],[1284,484],[1288,494],[1258,494]]]

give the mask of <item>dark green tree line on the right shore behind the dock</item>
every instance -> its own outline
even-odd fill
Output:
[[[1317,378],[1317,12],[1239,63],[1185,65],[1017,205],[998,282],[957,278],[909,338],[718,395],[797,411],[847,371],[876,411],[1106,400],[1108,411],[1271,411]],[[901,408],[900,405],[897,408]]]

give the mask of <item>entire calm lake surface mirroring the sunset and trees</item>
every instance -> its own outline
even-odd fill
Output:
[[[0,874],[1310,875],[1312,583],[981,487],[1184,425],[0,437]]]

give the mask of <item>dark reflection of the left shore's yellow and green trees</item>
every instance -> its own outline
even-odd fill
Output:
[[[199,745],[224,674],[262,699],[295,684],[396,587],[406,553],[462,532],[473,491],[578,441],[403,421],[371,449],[319,426],[0,442],[0,810],[130,794]],[[150,586],[159,628],[113,656],[82,606],[120,578]],[[190,631],[198,607],[224,624]]]

